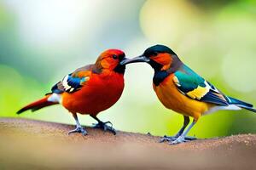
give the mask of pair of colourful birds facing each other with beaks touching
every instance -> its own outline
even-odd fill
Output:
[[[76,121],[76,128],[69,133],[87,134],[79,123],[77,113],[80,113],[96,119],[96,127],[115,134],[111,122],[102,122],[97,115],[119,100],[125,86],[125,65],[136,62],[146,62],[152,66],[153,87],[157,97],[166,108],[177,111],[184,118],[183,127],[178,133],[172,137],[164,136],[161,142],[179,144],[195,139],[186,136],[191,127],[201,116],[214,111],[246,109],[256,112],[253,105],[226,96],[184,65],[171,48],[155,45],[133,59],[125,58],[125,53],[119,49],[108,49],[100,54],[95,64],[85,65],[68,74],[51,88],[51,93],[26,105],[17,113],[61,104]],[[194,119],[190,125],[189,116]]]

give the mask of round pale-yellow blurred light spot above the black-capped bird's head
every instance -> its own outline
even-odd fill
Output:
[[[140,22],[149,40],[172,45],[196,31],[199,16],[195,6],[183,0],[148,0],[141,9]]]

